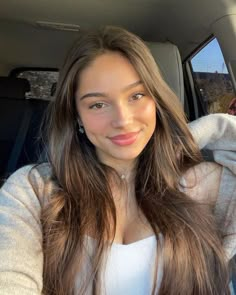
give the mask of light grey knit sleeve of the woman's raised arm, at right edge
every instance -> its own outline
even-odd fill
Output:
[[[215,162],[223,166],[215,216],[231,259],[236,254],[236,117],[211,114],[191,122],[189,127],[200,149],[211,150]]]

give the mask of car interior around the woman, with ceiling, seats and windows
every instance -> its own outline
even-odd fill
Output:
[[[124,27],[146,42],[188,120],[227,113],[236,90],[235,0],[2,1],[0,184],[41,159],[40,125],[65,55],[80,31],[104,25]],[[195,68],[195,59],[215,41],[220,66],[211,70],[209,51],[199,62],[202,69]]]

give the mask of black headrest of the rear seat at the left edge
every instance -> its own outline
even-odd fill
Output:
[[[24,99],[30,91],[29,81],[14,77],[0,77],[0,98]]]

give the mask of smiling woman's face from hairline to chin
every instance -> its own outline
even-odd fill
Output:
[[[88,139],[104,164],[133,163],[156,126],[156,105],[127,58],[98,56],[81,75],[76,107]]]

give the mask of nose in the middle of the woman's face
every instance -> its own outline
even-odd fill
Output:
[[[133,112],[131,107],[125,104],[119,104],[114,107],[112,114],[112,127],[124,128],[133,122]]]

